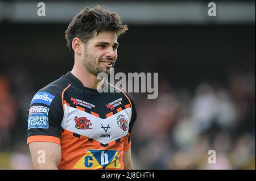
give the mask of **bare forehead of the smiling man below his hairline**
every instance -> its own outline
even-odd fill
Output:
[[[101,31],[97,36],[90,39],[91,43],[106,42],[110,44],[117,43],[117,33],[114,31]]]

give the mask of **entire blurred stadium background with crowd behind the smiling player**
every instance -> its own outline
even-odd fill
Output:
[[[0,169],[32,169],[27,108],[72,69],[64,31],[97,4],[129,27],[115,73],[159,73],[157,99],[132,94],[135,169],[255,169],[255,1],[39,2],[0,1]]]

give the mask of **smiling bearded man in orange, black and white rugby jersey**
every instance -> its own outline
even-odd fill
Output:
[[[101,6],[82,10],[69,24],[65,39],[74,52],[73,69],[39,90],[28,110],[35,169],[133,169],[134,100],[118,87],[121,92],[97,90],[96,78],[113,68],[118,36],[127,30]]]

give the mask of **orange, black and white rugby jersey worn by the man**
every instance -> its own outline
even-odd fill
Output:
[[[127,92],[100,93],[68,72],[32,98],[27,144],[61,145],[59,169],[123,169],[136,118]]]

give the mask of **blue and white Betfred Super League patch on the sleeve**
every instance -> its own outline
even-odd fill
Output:
[[[32,106],[28,110],[28,129],[48,128],[49,108],[44,106]]]

